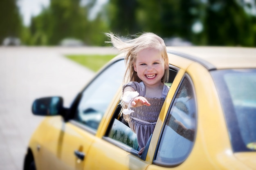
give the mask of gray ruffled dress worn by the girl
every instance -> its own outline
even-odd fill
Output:
[[[169,91],[169,87],[164,85],[161,98],[150,98],[146,96],[146,87],[143,82],[129,82],[123,86],[123,90],[126,86],[134,88],[135,91],[139,93],[139,96],[145,97],[150,103],[150,106],[131,108],[134,112],[130,115],[123,114],[131,130],[137,134],[140,149],[145,147],[150,135],[155,129],[155,124]]]

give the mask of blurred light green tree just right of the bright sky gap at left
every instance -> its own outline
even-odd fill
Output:
[[[51,0],[49,8],[32,18],[31,44],[57,45],[64,38],[85,41],[87,24],[87,11],[80,0]]]

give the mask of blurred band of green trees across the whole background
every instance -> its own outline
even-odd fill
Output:
[[[97,0],[50,0],[49,7],[25,27],[16,0],[1,0],[0,40],[17,36],[27,45],[58,45],[73,38],[86,45],[105,46],[109,44],[104,32],[120,36],[153,32],[194,45],[256,46],[255,1],[108,0],[90,18]]]

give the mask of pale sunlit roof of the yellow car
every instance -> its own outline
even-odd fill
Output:
[[[227,68],[256,68],[256,48],[168,46],[167,52],[205,66],[208,70]]]

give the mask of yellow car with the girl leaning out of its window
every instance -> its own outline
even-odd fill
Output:
[[[120,116],[124,54],[78,93],[36,99],[24,170],[256,170],[256,49],[167,47],[170,90],[145,150]],[[173,117],[193,131],[185,138]]]

